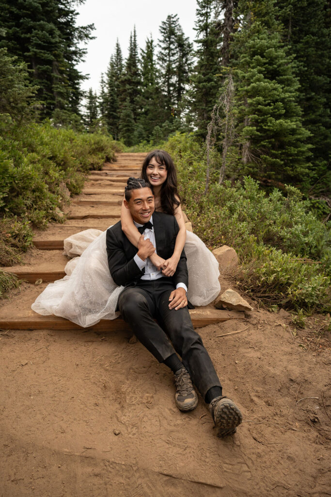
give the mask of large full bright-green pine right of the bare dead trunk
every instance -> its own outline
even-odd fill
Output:
[[[242,0],[234,35],[241,173],[281,181],[308,174],[309,132],[298,105],[293,57],[281,39],[273,0]]]

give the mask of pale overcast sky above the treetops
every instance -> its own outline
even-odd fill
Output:
[[[96,36],[87,45],[87,55],[78,70],[89,74],[89,80],[82,83],[85,90],[92,87],[99,90],[100,75],[107,69],[110,56],[119,39],[124,58],[128,55],[130,32],[135,24],[139,48],[145,48],[146,37],[154,41],[159,38],[159,26],[168,14],[178,14],[180,24],[190,40],[196,36],[193,30],[196,18],[196,0],[86,0],[77,6],[77,24],[94,23]],[[140,53],[139,53],[140,55]]]

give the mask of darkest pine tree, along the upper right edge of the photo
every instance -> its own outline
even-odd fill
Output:
[[[297,62],[298,102],[312,145],[311,183],[329,189],[331,178],[331,8],[327,0],[277,0],[283,39]]]

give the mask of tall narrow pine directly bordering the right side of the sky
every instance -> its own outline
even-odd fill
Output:
[[[219,93],[221,36],[214,18],[214,0],[197,0],[197,21],[194,28],[198,48],[195,52],[197,63],[191,77],[189,92],[193,122],[198,128],[196,134],[202,139],[207,135],[211,111]]]

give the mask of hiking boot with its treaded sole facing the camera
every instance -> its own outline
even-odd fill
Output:
[[[228,397],[216,397],[209,404],[209,411],[216,426],[217,436],[233,435],[243,420],[239,408]]]

